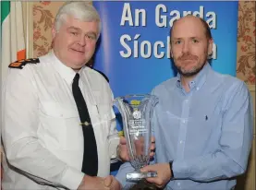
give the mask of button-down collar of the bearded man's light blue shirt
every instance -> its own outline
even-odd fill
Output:
[[[201,69],[201,71],[199,72],[199,74],[189,82],[189,88],[190,89],[201,89],[201,87],[203,86],[203,84],[206,81],[206,77],[208,74],[208,71],[211,70],[212,67],[211,65],[207,62],[203,68]],[[180,74],[177,73],[177,88],[182,89],[182,85],[181,85],[181,81],[180,81]]]

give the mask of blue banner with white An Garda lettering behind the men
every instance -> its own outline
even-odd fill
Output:
[[[238,2],[97,1],[93,6],[103,25],[94,67],[109,77],[115,97],[149,93],[176,75],[169,31],[188,14],[204,18],[212,30],[213,69],[236,75]]]

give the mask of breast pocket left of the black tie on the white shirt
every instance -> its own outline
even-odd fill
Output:
[[[79,113],[76,107],[64,107],[54,102],[43,102],[41,126],[48,146],[76,150],[83,146]]]

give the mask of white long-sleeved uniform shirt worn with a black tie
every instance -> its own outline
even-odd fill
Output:
[[[4,161],[3,189],[52,189],[58,184],[77,189],[84,173],[82,126],[72,94],[76,73],[53,52],[39,59],[39,64],[9,68],[4,85],[2,136],[6,158],[15,168]],[[97,143],[98,176],[104,177],[118,144],[113,94],[90,67],[79,75]]]

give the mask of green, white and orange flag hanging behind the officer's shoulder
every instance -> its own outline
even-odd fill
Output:
[[[1,74],[4,79],[10,63],[26,58],[21,2],[1,1],[1,31]]]

